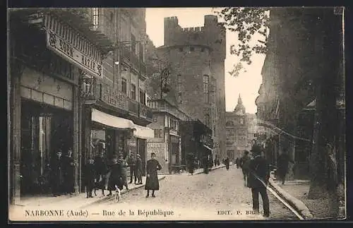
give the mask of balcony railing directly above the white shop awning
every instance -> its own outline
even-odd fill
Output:
[[[90,85],[92,83],[92,85]],[[111,107],[128,111],[128,98],[126,94],[116,91],[112,86],[97,83],[96,80],[83,80],[83,94],[86,104],[104,102]]]

